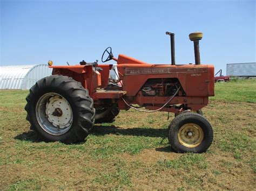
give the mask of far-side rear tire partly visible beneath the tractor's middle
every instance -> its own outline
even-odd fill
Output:
[[[96,109],[95,123],[112,123],[119,111],[116,104],[112,108]]]

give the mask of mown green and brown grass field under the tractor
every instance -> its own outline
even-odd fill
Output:
[[[235,189],[256,187],[256,81],[215,85],[203,109],[214,129],[203,154],[174,153],[165,112],[121,111],[80,144],[40,142],[28,91],[0,91],[0,189]]]

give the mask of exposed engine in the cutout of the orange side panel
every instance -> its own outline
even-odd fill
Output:
[[[144,96],[172,96],[178,87],[178,79],[149,79],[141,91]]]

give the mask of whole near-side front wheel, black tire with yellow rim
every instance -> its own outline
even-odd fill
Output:
[[[205,152],[211,146],[213,130],[207,119],[194,112],[179,114],[169,125],[169,142],[176,152]]]

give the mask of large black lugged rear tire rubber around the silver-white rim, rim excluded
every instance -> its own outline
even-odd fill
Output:
[[[56,136],[46,132],[37,119],[37,102],[49,93],[64,97],[72,109],[72,124],[69,130],[62,135]],[[73,80],[71,77],[62,75],[44,77],[31,87],[26,101],[28,102],[25,106],[28,113],[26,119],[30,123],[30,129],[46,142],[60,141],[67,144],[80,142],[89,135],[89,131],[93,127],[95,121],[93,100],[89,96],[88,90],[84,89],[80,82]]]

